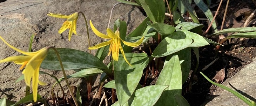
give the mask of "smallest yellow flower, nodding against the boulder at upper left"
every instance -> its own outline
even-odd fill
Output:
[[[65,21],[63,23],[62,27],[59,30],[59,33],[61,34],[66,29],[69,29],[69,33],[68,33],[68,40],[69,41],[71,40],[71,36],[72,36],[73,33],[75,33],[75,35],[77,35],[76,34],[76,21],[78,20],[78,16],[79,16],[78,12],[75,12],[72,15],[61,15],[61,14],[53,14],[53,13],[50,13],[50,14],[47,14],[47,15],[52,16],[52,17],[57,17],[57,18],[66,18],[66,19],[68,19],[67,21]]]

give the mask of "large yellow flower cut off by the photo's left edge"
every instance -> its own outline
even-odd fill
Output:
[[[38,83],[40,85],[46,84],[44,82],[39,81],[39,68],[43,59],[45,59],[47,55],[48,48],[45,47],[36,52],[24,52],[8,44],[1,36],[0,39],[2,39],[2,41],[4,41],[6,45],[11,47],[15,51],[25,54],[19,56],[10,56],[8,58],[0,60],[0,63],[14,61],[15,64],[22,65],[20,69],[23,69],[26,66],[25,69],[22,71],[22,74],[24,74],[24,80],[27,86],[30,86],[32,78],[33,99],[34,102],[36,102]]]

